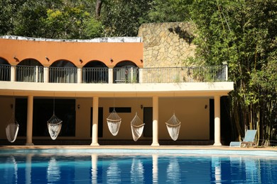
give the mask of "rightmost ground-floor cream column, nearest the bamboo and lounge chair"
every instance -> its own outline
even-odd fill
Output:
[[[214,96],[214,146],[221,146],[220,142],[220,96]]]

